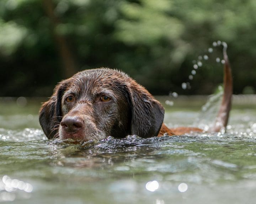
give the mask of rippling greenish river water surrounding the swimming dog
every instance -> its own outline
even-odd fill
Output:
[[[165,105],[165,123],[172,127],[192,125],[206,102],[175,100],[175,106]],[[23,106],[2,100],[0,202],[255,203],[256,98],[234,102],[225,134],[75,144],[46,140],[38,100]]]

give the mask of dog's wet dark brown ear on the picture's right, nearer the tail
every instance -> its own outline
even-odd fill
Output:
[[[131,134],[143,138],[157,136],[164,121],[161,103],[135,81],[128,86],[128,94],[132,109]]]

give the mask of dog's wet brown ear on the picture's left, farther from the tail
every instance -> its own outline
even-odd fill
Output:
[[[55,86],[49,101],[43,103],[39,111],[39,123],[48,139],[58,137],[58,126],[62,120],[61,101],[69,81],[61,81]]]

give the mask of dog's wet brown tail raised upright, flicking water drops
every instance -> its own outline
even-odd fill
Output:
[[[228,55],[226,53],[227,44],[222,42],[223,45],[223,57],[225,60],[224,64],[224,77],[223,77],[223,85],[224,85],[224,92],[222,97],[222,103],[220,105],[220,109],[215,120],[215,124],[212,128],[212,131],[219,132],[220,130],[225,130],[228,119],[229,119],[229,112],[231,108],[231,99],[233,94],[233,79],[231,68],[229,65]]]

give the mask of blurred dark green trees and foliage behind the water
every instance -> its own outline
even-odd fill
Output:
[[[223,80],[218,40],[234,93],[255,94],[255,13],[255,0],[1,0],[0,96],[49,97],[60,80],[98,67],[154,95],[211,94]]]

